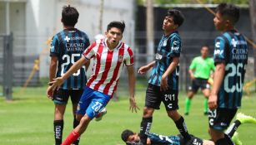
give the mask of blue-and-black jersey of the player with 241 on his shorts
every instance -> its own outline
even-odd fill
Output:
[[[181,39],[178,31],[174,31],[168,36],[163,36],[158,44],[158,51],[155,56],[155,65],[151,72],[149,84],[160,86],[163,73],[173,62],[173,57],[179,57],[181,53]],[[178,90],[179,65],[168,75],[168,86],[170,89]]]

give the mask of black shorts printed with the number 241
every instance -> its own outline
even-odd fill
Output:
[[[148,84],[145,106],[151,109],[160,109],[161,102],[167,111],[178,109],[178,90],[160,91],[159,86]]]

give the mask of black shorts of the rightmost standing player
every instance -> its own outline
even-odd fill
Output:
[[[238,109],[208,109],[209,127],[215,130],[227,129],[237,111]]]

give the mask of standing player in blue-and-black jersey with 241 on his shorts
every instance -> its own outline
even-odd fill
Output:
[[[138,70],[139,74],[144,74],[153,67],[148,81],[143,119],[140,126],[140,140],[143,145],[147,143],[154,109],[160,109],[161,102],[165,105],[168,117],[173,119],[185,141],[191,139],[185,121],[177,111],[178,63],[182,46],[178,27],[183,24],[183,20],[182,12],[175,9],[168,10],[163,20],[164,35],[158,44],[155,60]]]

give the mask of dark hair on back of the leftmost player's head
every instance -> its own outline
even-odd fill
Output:
[[[62,22],[64,26],[74,27],[78,22],[79,12],[75,7],[64,6],[62,12]]]

